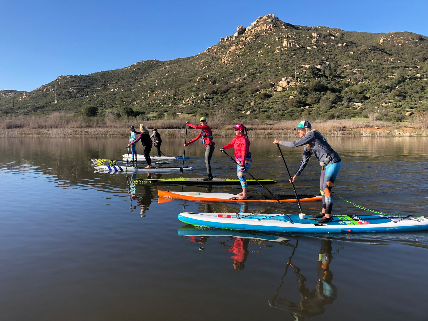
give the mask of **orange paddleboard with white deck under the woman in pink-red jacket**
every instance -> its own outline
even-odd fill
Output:
[[[248,199],[237,199],[240,195],[229,193],[193,193],[193,192],[170,192],[169,190],[158,190],[158,195],[172,199],[185,199],[187,201],[214,201],[214,202],[278,202],[270,194],[249,195]],[[296,202],[295,195],[275,194],[279,202]],[[321,195],[297,195],[300,202],[321,201]]]

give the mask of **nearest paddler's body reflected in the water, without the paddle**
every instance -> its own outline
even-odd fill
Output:
[[[331,304],[336,299],[337,288],[331,282],[333,273],[329,269],[331,262],[331,241],[321,240],[321,250],[318,255],[318,282],[314,290],[309,291],[305,285],[306,278],[300,274],[300,269],[294,268],[294,273],[297,275],[299,284],[299,292],[301,295],[299,309],[290,309],[297,320],[303,320],[303,317],[313,317],[324,313],[324,305]]]

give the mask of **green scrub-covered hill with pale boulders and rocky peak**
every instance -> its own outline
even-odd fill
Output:
[[[0,113],[396,122],[428,109],[427,78],[425,36],[303,27],[265,15],[196,56],[0,91]]]

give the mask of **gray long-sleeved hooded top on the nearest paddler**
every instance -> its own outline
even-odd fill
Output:
[[[330,155],[332,159],[326,165],[341,161],[339,155],[331,148],[329,143],[327,143],[327,140],[325,140],[325,138],[322,137],[322,135],[318,133],[318,131],[310,131],[308,134],[294,142],[281,142],[282,146],[287,147],[299,147],[306,144],[309,144],[310,149],[308,151],[306,149],[306,146],[303,148],[303,158],[300,162],[299,168],[297,169],[297,176],[299,176],[303,172],[303,169],[308,164],[309,158],[312,154],[315,155],[318,162],[323,162],[327,158],[327,155],[333,151]]]

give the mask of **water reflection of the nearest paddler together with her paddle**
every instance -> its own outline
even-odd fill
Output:
[[[296,320],[304,320],[304,317],[311,318],[315,315],[324,313],[324,305],[331,304],[337,297],[337,288],[333,285],[333,273],[330,271],[331,255],[331,241],[321,239],[321,249],[318,255],[318,273],[317,284],[315,289],[309,291],[306,286],[306,278],[300,273],[300,268],[291,262],[292,257],[297,249],[298,239],[291,256],[288,259],[284,275],[281,278],[281,284],[276,290],[276,294],[269,305],[282,310],[290,311]],[[297,276],[297,284],[300,292],[300,301],[297,305],[293,301],[288,301],[279,297],[279,290],[284,283],[285,275],[288,272],[288,267],[294,268],[294,274]],[[276,306],[276,305],[282,306]]]

